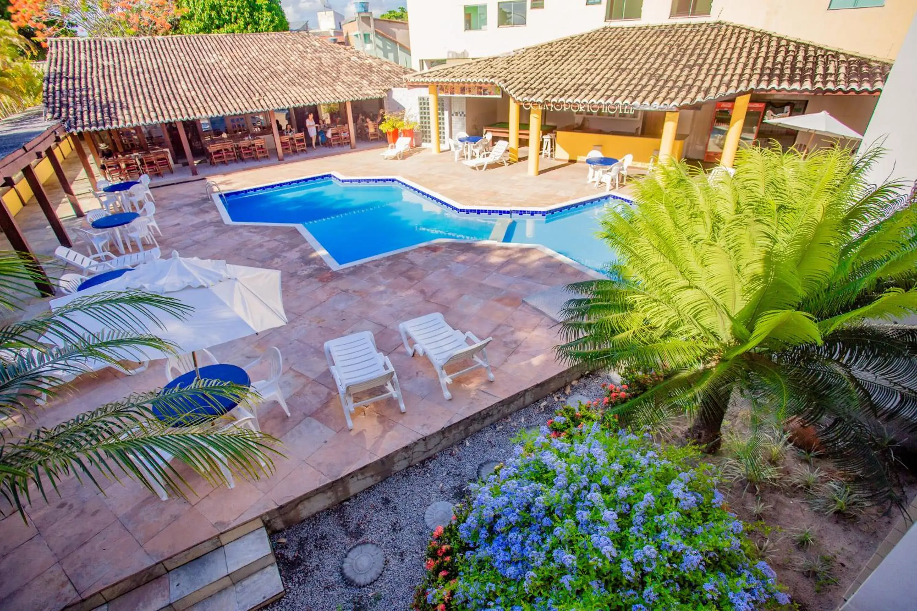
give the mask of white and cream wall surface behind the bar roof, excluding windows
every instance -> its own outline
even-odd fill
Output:
[[[585,0],[545,0],[545,8],[527,10],[519,27],[497,27],[499,0],[407,0],[411,16],[411,55],[420,60],[481,58],[507,53],[607,23],[622,27],[679,23],[670,18],[671,0],[643,0],[640,19],[606,22],[610,0],[586,5]],[[828,10],[829,0],[713,0],[710,17],[760,27],[785,36],[830,47],[894,58],[917,13],[917,0],[886,0],[884,6]],[[464,6],[487,5],[487,29],[466,32]]]

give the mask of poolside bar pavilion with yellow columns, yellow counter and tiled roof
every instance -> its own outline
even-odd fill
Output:
[[[740,146],[802,148],[809,139],[765,119],[828,110],[862,132],[890,68],[890,60],[708,22],[601,27],[407,82],[428,88],[431,110],[440,96],[464,98],[461,131],[506,137],[511,161],[521,140],[537,152],[547,131],[558,160],[595,150],[637,164],[691,158],[731,168]],[[431,112],[433,134],[458,131],[439,121]],[[527,163],[536,176],[543,158],[529,154]]]

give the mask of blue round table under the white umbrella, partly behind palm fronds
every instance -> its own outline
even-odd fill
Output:
[[[208,365],[198,368],[202,380],[215,380],[218,382],[229,382],[242,387],[251,385],[249,374],[242,367],[235,365]],[[189,387],[193,384],[197,375],[193,371],[173,379],[169,384],[162,387],[163,391],[174,390],[178,387]],[[206,396],[204,392],[195,393],[182,398],[171,399],[171,405],[156,405],[153,407],[153,414],[157,419],[167,421],[179,418],[173,426],[193,426],[217,418],[226,414],[230,409],[235,408],[238,401],[228,397]]]

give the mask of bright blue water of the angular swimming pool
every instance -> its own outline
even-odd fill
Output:
[[[470,193],[471,195],[471,193]],[[539,244],[593,269],[613,258],[596,237],[607,199],[547,217],[456,213],[398,182],[345,183],[331,178],[226,193],[237,223],[302,224],[338,265],[437,238]]]

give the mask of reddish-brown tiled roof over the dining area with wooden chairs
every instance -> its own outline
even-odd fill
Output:
[[[380,98],[408,72],[304,32],[49,42],[45,109],[70,131]]]

